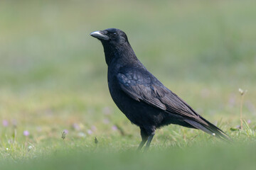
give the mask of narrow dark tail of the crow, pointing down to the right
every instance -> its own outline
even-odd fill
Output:
[[[203,120],[203,121],[202,121]],[[203,130],[204,132],[207,132],[210,135],[213,135],[215,137],[218,137],[222,140],[226,140],[228,142],[231,141],[230,137],[223,132],[223,130],[220,130],[217,126],[210,123],[208,120],[200,116],[200,120],[185,120],[186,123],[189,125],[192,125],[194,128]]]

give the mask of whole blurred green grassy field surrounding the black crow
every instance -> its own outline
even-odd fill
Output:
[[[255,15],[249,0],[1,1],[0,169],[253,169]],[[112,102],[89,35],[105,28],[124,30],[149,71],[235,143],[169,125],[134,152],[139,128]]]

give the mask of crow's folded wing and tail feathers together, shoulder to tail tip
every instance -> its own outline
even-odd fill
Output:
[[[145,72],[126,72],[117,74],[119,85],[128,96],[136,101],[144,102],[167,113],[181,115],[183,121],[194,128],[201,129],[210,135],[229,140],[218,127],[198,115],[185,101],[167,89],[152,74]]]

